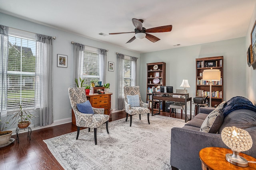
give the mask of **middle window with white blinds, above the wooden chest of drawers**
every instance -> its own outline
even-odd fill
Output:
[[[82,78],[85,78],[85,84],[89,85],[90,81],[100,81],[100,61],[97,48],[85,46],[84,62],[82,66]]]

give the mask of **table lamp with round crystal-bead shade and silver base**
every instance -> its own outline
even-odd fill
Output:
[[[221,132],[221,139],[233,151],[233,154],[226,154],[226,160],[237,166],[248,166],[248,161],[239,156],[239,153],[251,149],[252,137],[250,134],[244,129],[234,126],[225,127]]]

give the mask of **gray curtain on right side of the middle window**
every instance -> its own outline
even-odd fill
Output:
[[[107,50],[99,49],[100,61],[100,81],[102,84],[106,83],[106,65],[107,65]]]

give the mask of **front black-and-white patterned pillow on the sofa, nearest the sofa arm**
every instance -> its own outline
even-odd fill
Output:
[[[200,127],[200,132],[205,133],[217,133],[220,126],[222,125],[224,115],[221,109],[214,109],[209,115],[204,119]]]

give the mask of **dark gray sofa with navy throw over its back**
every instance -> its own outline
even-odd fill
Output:
[[[171,129],[170,164],[172,170],[201,170],[201,161],[199,159],[199,151],[201,149],[205,147],[228,148],[223,143],[220,134],[224,127],[235,126],[248,131],[252,137],[253,145],[250,150],[244,153],[256,158],[256,107],[251,102],[250,107],[252,109],[245,109],[246,106],[243,104],[236,104],[236,107],[228,107],[230,104],[228,102],[223,102],[220,104],[222,105],[221,108],[218,108],[219,105],[216,109],[200,107],[200,113],[186,123],[184,127],[173,127]],[[223,116],[222,110],[224,108],[232,109],[232,111],[228,115]],[[212,125],[213,133],[203,132],[202,124],[205,122],[204,120],[209,113],[216,110],[219,110],[220,116]]]

